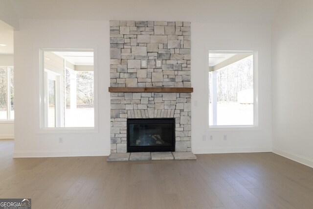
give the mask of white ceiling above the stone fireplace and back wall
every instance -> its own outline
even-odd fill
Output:
[[[283,0],[10,0],[20,19],[270,23]]]

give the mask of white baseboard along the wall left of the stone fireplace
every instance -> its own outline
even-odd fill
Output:
[[[14,151],[13,158],[49,158],[49,157],[81,157],[109,156],[110,150],[80,150],[80,151]]]

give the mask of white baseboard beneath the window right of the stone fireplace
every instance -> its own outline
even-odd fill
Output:
[[[192,149],[194,154],[271,152],[271,147],[215,147]]]

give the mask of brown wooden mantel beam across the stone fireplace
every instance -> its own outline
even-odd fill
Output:
[[[194,88],[176,87],[109,87],[112,93],[192,93]]]

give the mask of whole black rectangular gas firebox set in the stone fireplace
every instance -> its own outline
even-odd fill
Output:
[[[128,118],[127,152],[175,151],[175,118]]]

